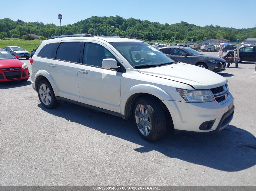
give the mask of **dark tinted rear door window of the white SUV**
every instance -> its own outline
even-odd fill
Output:
[[[57,49],[56,59],[79,62],[81,44],[81,42],[61,43]]]

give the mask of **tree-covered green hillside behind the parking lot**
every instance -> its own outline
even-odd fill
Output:
[[[60,35],[60,27],[55,24],[42,22],[12,21],[9,18],[0,19],[0,39],[18,38],[29,33],[42,37]],[[89,33],[93,35],[138,37],[145,41],[187,42],[207,39],[224,38],[231,42],[237,39],[245,41],[247,38],[256,38],[256,28],[235,29],[207,25],[200,27],[181,21],[175,24],[160,24],[158,22],[141,21],[140,19],[125,19],[116,15],[110,17],[93,16],[74,24],[62,26],[62,34]]]

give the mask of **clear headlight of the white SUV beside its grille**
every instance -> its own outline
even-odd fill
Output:
[[[199,102],[214,101],[214,97],[211,91],[209,90],[196,91],[196,90],[177,89],[177,91],[186,102],[199,103]]]

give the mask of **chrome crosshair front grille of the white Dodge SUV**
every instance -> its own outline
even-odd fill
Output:
[[[230,98],[228,84],[218,88],[212,88],[210,90],[214,96],[214,99],[220,104],[226,103]]]

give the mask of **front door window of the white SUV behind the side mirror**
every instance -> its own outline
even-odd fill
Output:
[[[101,67],[102,60],[105,58],[113,58],[115,56],[108,49],[95,43],[85,43],[83,63]]]

